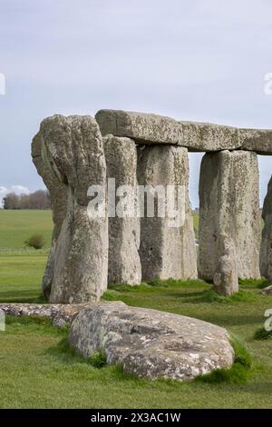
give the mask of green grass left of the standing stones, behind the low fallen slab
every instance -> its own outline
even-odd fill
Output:
[[[53,229],[51,211],[0,210],[0,299],[32,302],[40,293]],[[43,234],[42,250],[25,248],[35,233]]]

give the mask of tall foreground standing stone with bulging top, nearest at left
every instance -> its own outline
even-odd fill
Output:
[[[54,115],[41,124],[39,140],[46,164],[41,174],[49,169],[68,194],[54,251],[50,302],[97,301],[107,287],[108,219],[107,213],[88,215],[87,191],[92,184],[105,189],[102,135],[90,116]]]

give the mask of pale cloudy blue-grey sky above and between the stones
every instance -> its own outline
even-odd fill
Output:
[[[271,0],[0,0],[0,198],[44,188],[30,144],[48,115],[272,128],[271,45]],[[201,156],[189,154],[194,207]],[[259,169],[262,200],[272,158]]]

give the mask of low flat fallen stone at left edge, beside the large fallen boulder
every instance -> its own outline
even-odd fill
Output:
[[[88,303],[82,304],[31,304],[31,303],[0,303],[0,310],[10,316],[47,317],[53,325],[63,327],[70,324],[73,318]]]

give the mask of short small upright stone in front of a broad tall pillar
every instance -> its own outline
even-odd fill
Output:
[[[218,265],[213,276],[213,283],[218,293],[225,296],[238,292],[237,254],[233,240],[219,235]]]

